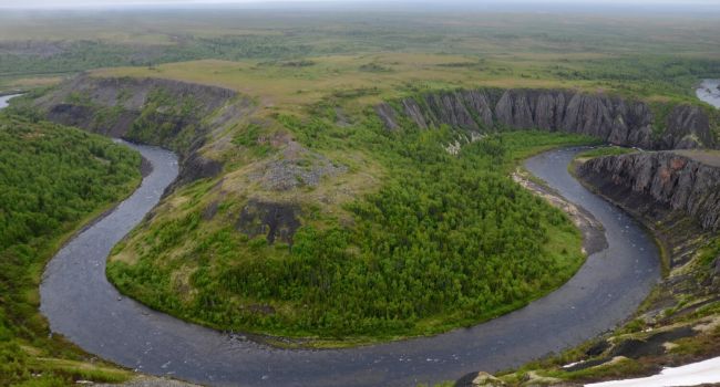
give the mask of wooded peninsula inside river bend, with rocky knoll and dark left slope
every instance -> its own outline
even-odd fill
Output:
[[[184,153],[182,175],[195,179],[109,266],[126,294],[191,321],[329,345],[440,333],[522,306],[583,262],[566,217],[510,172],[522,155],[588,137],[507,133],[453,155],[445,146],[461,137],[451,127],[389,130],[372,105],[267,114],[247,96],[218,92],[225,103],[208,115],[203,100],[187,102],[203,95],[194,85],[89,76],[64,87],[39,100],[53,119],[93,127],[115,108],[133,118],[113,129],[128,138],[160,121],[197,123],[193,133],[207,134],[189,147],[160,137]],[[105,95],[135,100],[94,97]],[[226,112],[246,113],[238,122]]]

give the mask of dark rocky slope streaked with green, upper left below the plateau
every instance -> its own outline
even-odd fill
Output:
[[[236,97],[232,90],[161,79],[75,77],[34,102],[50,121],[90,132],[186,150],[175,142],[187,127],[207,130],[203,119]],[[162,126],[152,135],[140,126]]]

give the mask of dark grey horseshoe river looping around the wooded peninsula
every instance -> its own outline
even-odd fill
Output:
[[[527,160],[526,167],[595,215],[609,242],[560,289],[516,312],[434,337],[350,349],[271,348],[154,312],[121,296],[107,282],[111,248],[177,176],[172,153],[128,146],[153,164],[152,174],[132,197],[52,259],[41,285],[41,311],[54,333],[148,374],[217,386],[415,386],[456,379],[474,370],[518,366],[616,326],[660,276],[651,239],[567,172],[577,150],[554,150]]]

